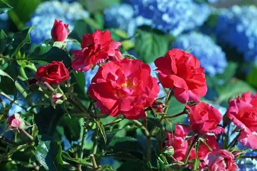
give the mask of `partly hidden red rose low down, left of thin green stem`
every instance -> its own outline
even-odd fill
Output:
[[[167,141],[166,147],[172,146],[174,148],[173,157],[178,161],[184,161],[189,150],[190,142],[185,141],[186,136],[189,134],[190,130],[181,125],[176,125],[175,131],[173,134],[167,132]],[[190,153],[189,160],[195,158],[195,149]]]

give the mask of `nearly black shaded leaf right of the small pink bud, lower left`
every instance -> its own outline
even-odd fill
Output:
[[[35,116],[35,124],[38,126],[39,134],[52,135],[63,115],[64,111],[60,105],[56,106],[56,109],[52,106],[41,109]]]

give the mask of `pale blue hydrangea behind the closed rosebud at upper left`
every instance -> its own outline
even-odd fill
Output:
[[[54,23],[54,18],[58,21],[63,21],[69,24],[69,29],[74,29],[76,20],[80,20],[89,16],[89,13],[83,7],[75,2],[58,2],[46,1],[41,3],[33,13],[31,20],[26,23],[26,26],[36,25],[31,31],[30,37],[33,44],[40,44],[43,41],[51,38],[51,28]]]

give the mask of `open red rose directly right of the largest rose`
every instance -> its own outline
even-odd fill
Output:
[[[173,88],[175,98],[181,103],[200,102],[205,96],[207,85],[204,68],[190,53],[172,49],[165,57],[155,60],[160,83],[165,88]]]

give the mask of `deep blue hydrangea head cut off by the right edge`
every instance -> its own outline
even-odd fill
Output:
[[[221,43],[235,47],[246,62],[257,64],[257,7],[234,5],[217,18],[216,35]]]

